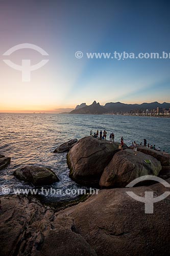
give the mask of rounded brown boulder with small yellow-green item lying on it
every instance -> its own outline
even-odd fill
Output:
[[[150,160],[151,163],[145,163]],[[160,162],[152,156],[133,150],[125,150],[114,155],[110,163],[105,167],[100,179],[100,186],[125,187],[132,180],[143,175],[158,176],[161,170]]]

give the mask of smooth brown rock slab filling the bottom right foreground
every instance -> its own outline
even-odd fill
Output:
[[[170,183],[170,180],[168,180]],[[145,191],[162,195],[169,188],[157,183],[149,187],[102,189],[83,203],[60,211],[54,222],[71,227],[98,256],[166,256],[170,253],[170,196],[154,203],[153,214],[144,213],[144,203],[126,191],[144,197]]]

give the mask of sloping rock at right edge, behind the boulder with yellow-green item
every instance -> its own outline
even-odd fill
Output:
[[[151,148],[146,147],[146,146],[138,146],[137,151],[156,158],[158,161],[161,162],[162,166],[169,165],[169,163],[170,163],[169,155],[165,154],[164,152],[151,150]]]

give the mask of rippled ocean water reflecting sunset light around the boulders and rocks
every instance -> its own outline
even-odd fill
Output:
[[[49,167],[57,174],[60,181],[52,187],[77,188],[68,178],[66,153],[54,154],[61,143],[80,139],[92,132],[106,130],[107,138],[111,132],[115,141],[124,137],[128,145],[144,138],[147,143],[160,146],[161,150],[170,152],[170,118],[115,116],[115,115],[69,115],[69,114],[0,114],[0,154],[11,157],[11,164],[1,170],[0,185],[13,188],[31,188],[25,182],[13,177],[13,171],[24,165]],[[2,189],[0,189],[2,194]],[[55,200],[70,200],[75,196],[55,195]],[[57,198],[56,198],[57,197]]]

